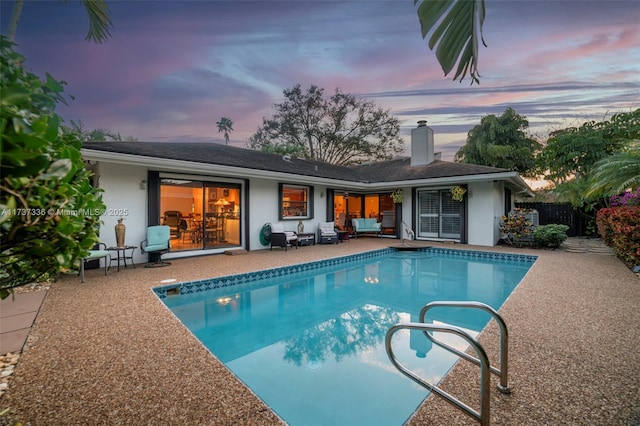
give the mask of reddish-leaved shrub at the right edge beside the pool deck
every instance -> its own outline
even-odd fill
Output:
[[[640,265],[640,206],[600,209],[598,233],[629,267]]]

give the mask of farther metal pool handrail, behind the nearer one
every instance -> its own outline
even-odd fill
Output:
[[[496,320],[498,326],[500,327],[500,369],[496,367],[490,366],[489,370],[500,377],[500,383],[498,384],[498,390],[503,394],[510,394],[511,389],[508,384],[508,375],[509,375],[509,331],[507,330],[507,324],[504,322],[502,316],[491,306],[482,303],[482,302],[471,302],[471,301],[434,301],[429,302],[420,310],[420,323],[424,323],[425,316],[427,311],[435,308],[435,307],[462,307],[462,308],[475,308],[481,309],[489,314]],[[431,335],[428,331],[424,331],[424,334],[436,345],[449,350],[450,352],[455,353],[461,358],[466,359],[476,365],[480,365],[480,360],[474,358],[473,356],[459,351],[444,342],[436,339],[433,335]]]

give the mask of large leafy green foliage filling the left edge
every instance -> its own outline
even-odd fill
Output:
[[[0,36],[0,298],[79,265],[104,211],[79,138],[60,129],[63,83],[28,72],[13,46]]]

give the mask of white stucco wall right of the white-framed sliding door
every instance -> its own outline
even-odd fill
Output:
[[[499,239],[497,224],[501,216],[501,184],[472,182],[468,191],[468,243],[494,246]]]

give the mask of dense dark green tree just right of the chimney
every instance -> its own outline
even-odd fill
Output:
[[[526,135],[528,128],[526,117],[516,114],[512,108],[507,108],[500,117],[487,115],[469,131],[467,143],[458,150],[455,161],[535,176],[535,154],[542,144]]]

